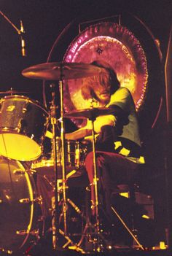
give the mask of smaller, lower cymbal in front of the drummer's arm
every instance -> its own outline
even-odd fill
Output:
[[[77,118],[77,119],[83,119],[88,118],[90,120],[99,117],[101,115],[110,115],[110,109],[109,108],[93,108],[93,109],[81,109],[72,111],[69,113],[64,114],[64,117],[66,118]]]

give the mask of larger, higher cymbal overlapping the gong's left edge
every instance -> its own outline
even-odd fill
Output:
[[[105,69],[86,63],[42,63],[22,71],[24,77],[44,80],[77,79],[90,77]]]

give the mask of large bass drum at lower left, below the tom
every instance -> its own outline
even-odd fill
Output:
[[[23,250],[38,229],[34,179],[22,163],[0,158],[0,250]],[[25,247],[24,247],[25,246]],[[1,253],[1,252],[0,252]]]

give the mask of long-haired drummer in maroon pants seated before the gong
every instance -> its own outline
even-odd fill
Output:
[[[106,69],[92,77],[82,79],[82,97],[97,103],[98,107],[109,108],[108,115],[94,121],[95,148],[98,177],[98,201],[110,220],[111,193],[119,184],[132,184],[139,164],[144,163],[138,131],[135,104],[130,91],[120,87],[117,75],[111,66],[103,61],[95,61],[95,66]],[[66,139],[84,139],[92,134],[91,121],[72,133]],[[92,214],[95,214],[95,190],[93,187],[93,152],[85,158],[85,168],[90,181]]]

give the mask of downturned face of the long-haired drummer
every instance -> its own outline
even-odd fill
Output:
[[[108,104],[111,98],[111,87],[110,85],[102,86],[99,84],[96,84],[94,87],[94,92],[96,97],[98,98],[98,101],[101,104]]]

